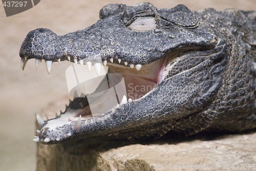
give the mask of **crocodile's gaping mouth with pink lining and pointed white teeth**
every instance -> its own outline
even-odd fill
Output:
[[[32,57],[25,56],[24,58],[21,58],[21,67],[23,70],[26,62],[30,58]],[[176,56],[165,56],[145,65],[134,65],[118,58],[117,55],[113,58],[108,58],[107,60],[102,61],[102,63],[83,59],[77,61],[77,58],[67,56],[53,61],[46,60],[46,68],[50,74],[52,62],[69,60],[74,62],[77,67],[80,67],[80,65],[83,67],[87,66],[88,72],[86,74],[96,74],[99,76],[102,70],[106,70],[108,74],[117,73],[122,75],[125,83],[126,94],[122,96],[122,98],[117,98],[117,103],[115,105],[109,106],[110,109],[108,112],[111,112],[118,109],[121,105],[136,102],[151,93],[152,90],[154,90],[154,88],[164,80],[165,76],[168,74],[168,67],[175,62],[175,59],[177,59]],[[35,59],[36,69],[41,61],[42,59]],[[92,106],[100,108],[102,103],[108,100],[110,100],[108,95],[101,96],[99,99],[95,100],[95,104],[91,105],[89,104],[87,96],[74,97],[73,101],[70,100],[69,106],[66,106],[66,111],[60,113],[59,116],[56,115],[56,118],[44,121],[37,114],[37,120],[42,125],[42,129],[37,130],[37,132],[43,132],[44,128],[47,128],[47,131],[54,131],[57,127],[62,127],[65,124],[70,124],[71,122],[76,122],[74,129],[79,130],[81,122],[86,124],[90,122],[92,123],[94,118],[106,119],[105,113],[108,112],[93,114],[91,108],[93,108]],[[70,134],[67,134],[67,136],[70,136]],[[39,137],[36,136],[34,141],[38,142]],[[56,138],[56,141],[59,141],[59,138]],[[49,142],[49,139],[44,139],[44,142]]]

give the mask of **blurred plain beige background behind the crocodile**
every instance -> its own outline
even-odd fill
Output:
[[[34,60],[28,61],[25,71],[20,69],[18,53],[27,33],[41,27],[58,35],[82,30],[98,20],[99,10],[104,5],[140,2],[143,1],[44,0],[34,8],[10,17],[6,17],[0,5],[0,170],[35,170],[36,143],[32,141],[35,112],[68,94],[65,70],[70,66],[69,62],[54,63],[51,75],[43,62],[35,70]],[[255,0],[147,2],[158,8],[184,4],[191,10],[209,7],[256,10]]]

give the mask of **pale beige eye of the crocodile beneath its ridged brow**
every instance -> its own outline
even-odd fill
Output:
[[[154,17],[138,17],[128,27],[140,32],[154,30],[157,27],[156,19]]]

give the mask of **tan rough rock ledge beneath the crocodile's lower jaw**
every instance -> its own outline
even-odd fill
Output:
[[[67,97],[51,103],[43,117],[55,117]],[[38,125],[37,125],[38,127]],[[37,170],[214,170],[256,169],[256,133],[200,135],[129,144],[37,144]]]

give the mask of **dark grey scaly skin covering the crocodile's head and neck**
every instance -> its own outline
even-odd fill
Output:
[[[132,23],[144,17],[154,18],[156,26],[133,30]],[[46,121],[39,133],[41,143],[46,143],[45,138],[50,139],[46,144],[98,142],[256,128],[255,12],[191,12],[183,5],[157,9],[148,3],[108,5],[100,10],[98,22],[84,30],[63,36],[43,28],[29,32],[19,55],[26,60],[63,61],[68,56],[72,62],[108,60],[107,66],[114,58],[115,66],[127,72],[131,68],[123,61],[142,68],[156,61],[165,70],[164,78],[147,96],[88,122],[82,120],[79,130],[74,129],[76,121],[71,121],[49,131]],[[75,98],[67,109],[87,105],[87,98]]]

